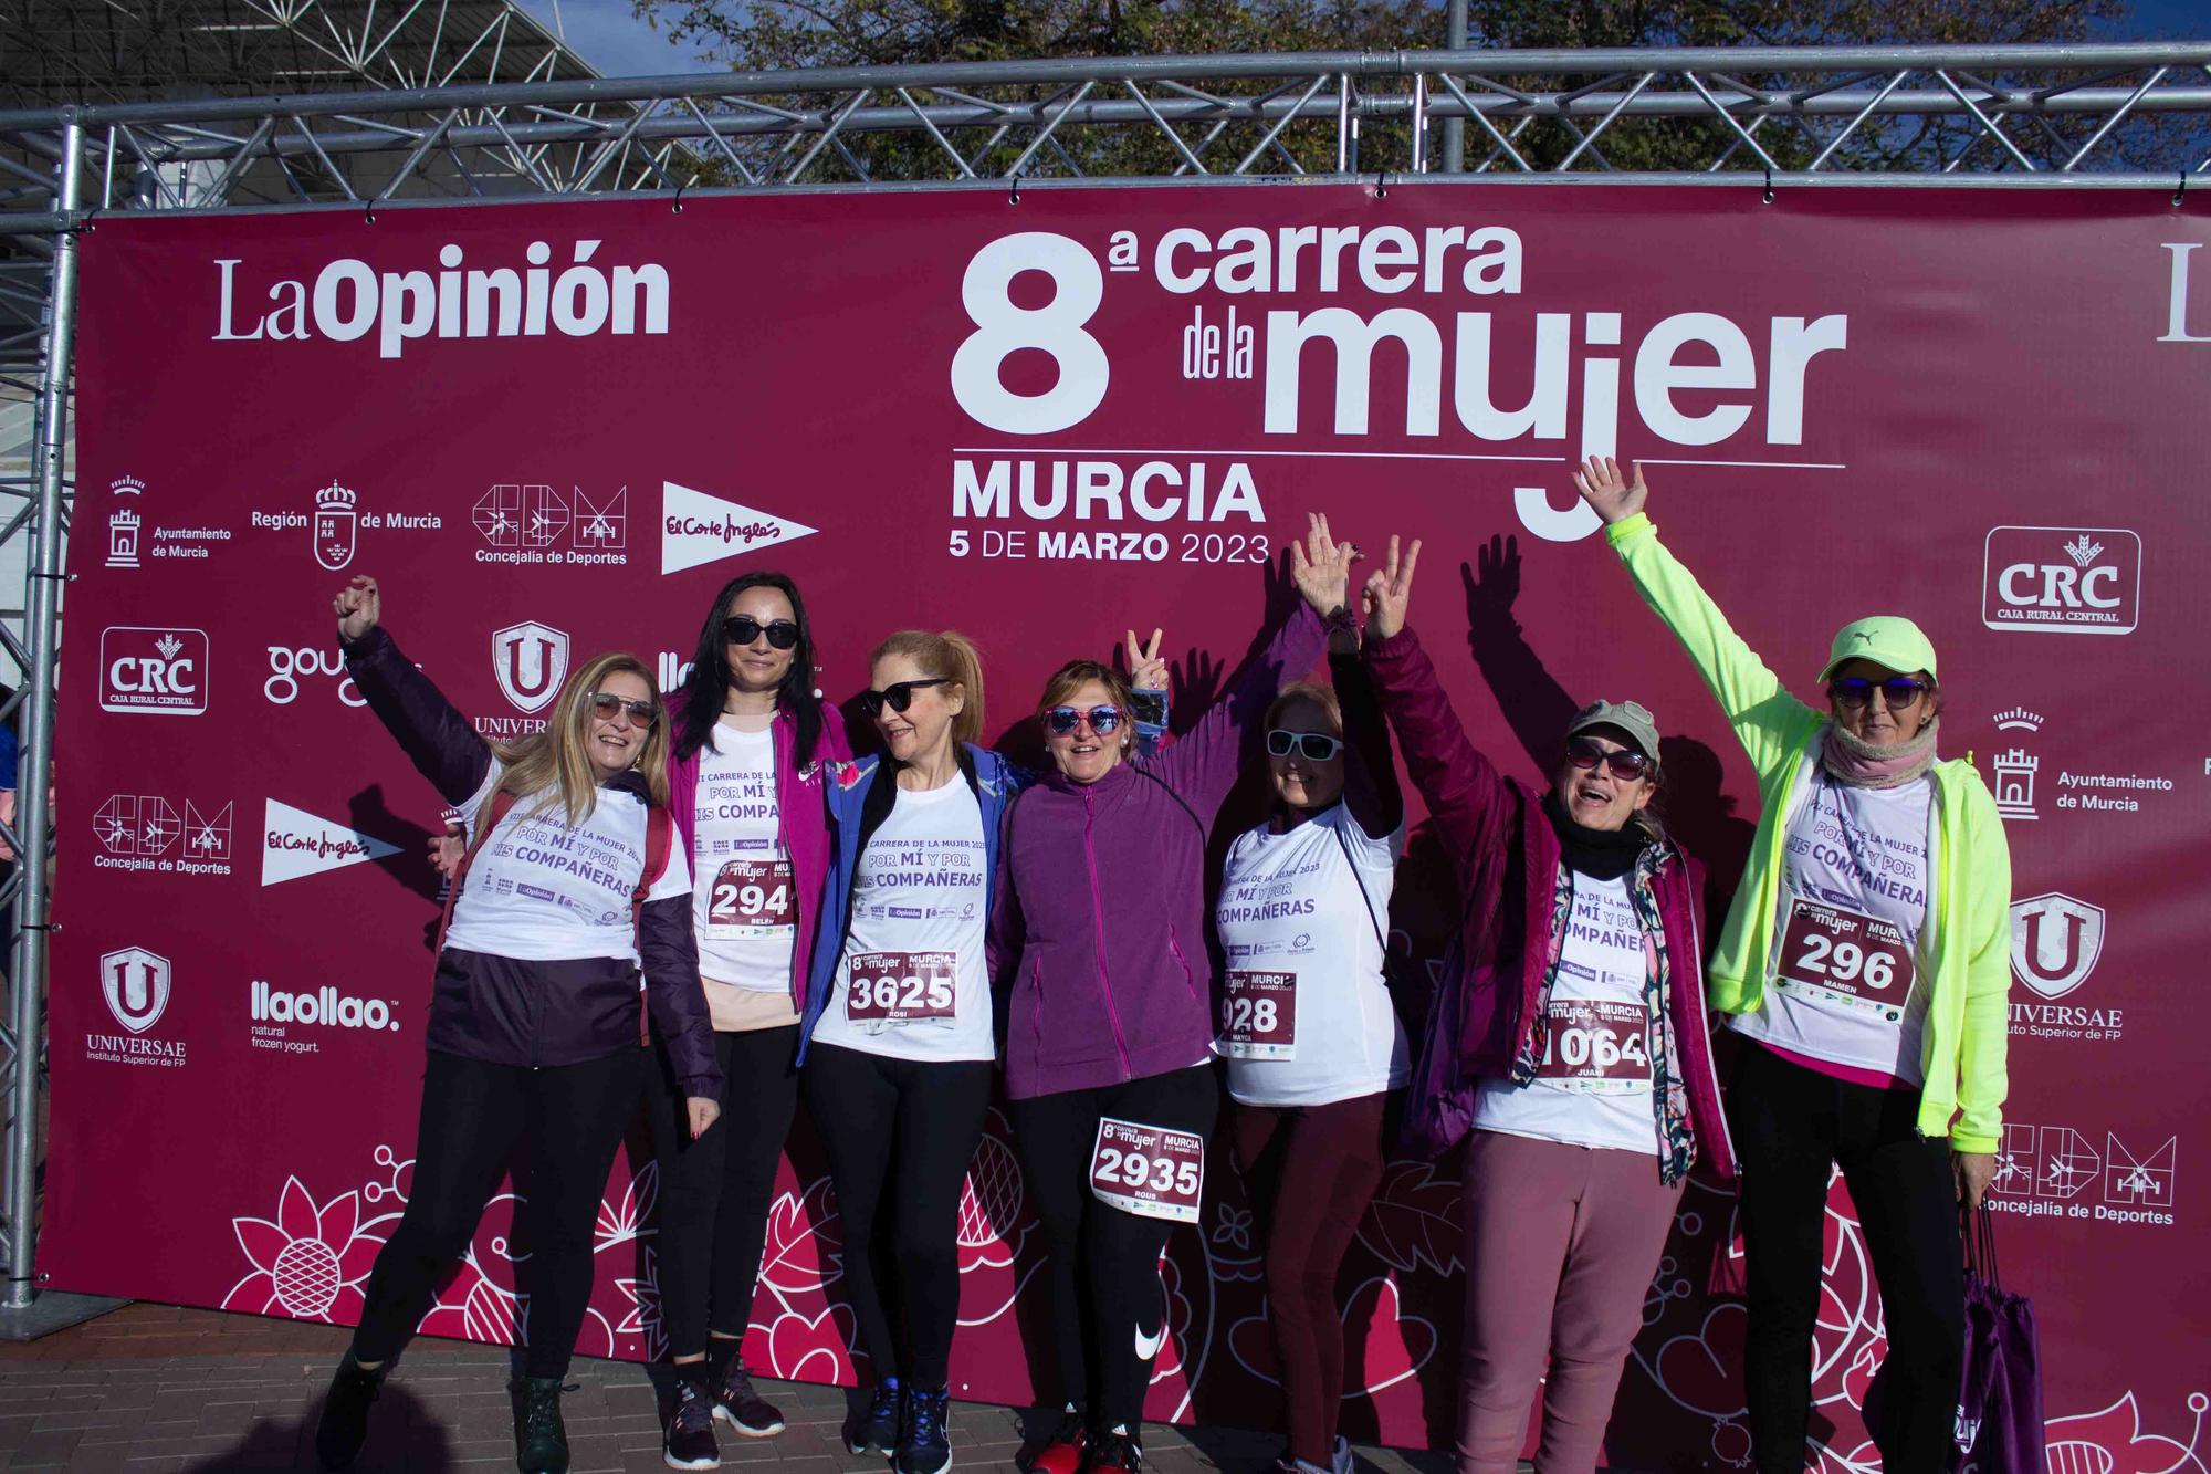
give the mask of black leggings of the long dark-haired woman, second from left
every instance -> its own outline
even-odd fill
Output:
[[[646,1120],[661,1164],[661,1326],[670,1357],[705,1354],[708,1330],[745,1337],[776,1164],[798,1113],[796,1051],[798,1025],[716,1034],[721,1118],[699,1140],[668,1049],[652,1051]]]

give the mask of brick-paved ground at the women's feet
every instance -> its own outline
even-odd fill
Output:
[[[345,1330],[175,1306],[126,1306],[27,1346],[0,1346],[0,1470],[314,1470],[312,1419]],[[504,1348],[416,1341],[387,1383],[356,1463],[363,1474],[513,1467]],[[661,1470],[643,1370],[579,1359],[564,1399],[575,1474]],[[725,1467],[756,1474],[882,1474],[838,1443],[845,1394],[763,1381],[789,1428],[723,1436]],[[955,1467],[1013,1474],[1021,1419],[953,1405]],[[1041,1430],[1039,1430],[1041,1432]],[[1280,1441],[1232,1430],[1145,1430],[1156,1474],[1256,1474]],[[1444,1474],[1448,1459],[1360,1450],[1362,1474]]]

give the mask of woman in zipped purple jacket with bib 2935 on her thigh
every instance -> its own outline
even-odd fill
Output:
[[[1267,702],[1320,657],[1318,615],[1351,617],[1340,591],[1358,553],[1324,556],[1324,540],[1316,522],[1313,558],[1291,544],[1304,604],[1174,746],[1134,755],[1128,688],[1097,662],[1044,691],[1052,768],[1013,806],[995,954],[1019,958],[1006,1096],[1050,1242],[1066,1421],[1035,1459],[1046,1474],[1143,1461],[1143,1394],[1167,1339],[1159,1255],[1172,1224],[1196,1222],[1218,1111],[1205,841]]]

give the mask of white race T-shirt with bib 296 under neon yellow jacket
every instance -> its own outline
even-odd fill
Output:
[[[1764,1003],[1736,1031],[1813,1060],[1919,1084],[1935,783],[1835,783],[1813,766],[1789,817]]]

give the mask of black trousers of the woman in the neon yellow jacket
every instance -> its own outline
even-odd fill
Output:
[[[1727,1091],[1742,1162],[1749,1293],[1742,1372],[1762,1474],[1802,1474],[1828,1164],[1842,1164],[1888,1328],[1871,1430],[1884,1470],[1950,1461],[1966,1357],[1966,1266],[1950,1142],[1919,1135],[1919,1091],[1875,1089],[1744,1045]]]

